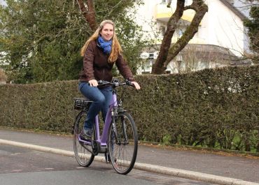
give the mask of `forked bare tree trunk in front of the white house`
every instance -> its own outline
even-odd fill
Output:
[[[171,3],[172,0],[169,0],[167,6],[170,6]],[[193,20],[187,27],[186,31],[183,33],[183,36],[181,36],[181,38],[179,38],[179,40],[177,40],[177,42],[171,46],[172,36],[174,35],[174,32],[179,25],[183,11],[188,9],[195,10],[195,16],[193,17]],[[176,10],[167,22],[167,30],[165,31],[165,36],[160,46],[158,59],[155,61],[155,64],[153,64],[153,74],[162,74],[165,72],[169,62],[172,61],[172,59],[174,59],[174,57],[176,57],[176,55],[179,54],[181,50],[183,50],[190,39],[192,39],[193,36],[197,33],[199,24],[207,11],[208,6],[204,3],[203,0],[193,0],[193,3],[190,6],[185,6],[185,0],[177,0]]]

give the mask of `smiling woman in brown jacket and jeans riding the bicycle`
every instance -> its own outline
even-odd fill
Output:
[[[79,90],[86,98],[93,101],[85,118],[82,135],[84,139],[91,138],[94,117],[100,111],[102,111],[102,117],[105,120],[112,97],[111,87],[97,87],[97,81],[111,82],[111,69],[114,63],[123,77],[130,80],[136,89],[140,89],[139,84],[134,81],[129,66],[123,59],[122,52],[114,23],[111,20],[101,22],[98,29],[81,49],[83,70],[79,75]]]

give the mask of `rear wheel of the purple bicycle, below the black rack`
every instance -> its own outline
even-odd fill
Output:
[[[84,167],[91,165],[92,161],[94,161],[94,155],[90,152],[92,151],[92,146],[86,145],[84,142],[80,142],[79,140],[80,133],[83,132],[86,114],[87,112],[85,111],[78,114],[76,117],[76,124],[73,128],[73,151],[78,164]]]

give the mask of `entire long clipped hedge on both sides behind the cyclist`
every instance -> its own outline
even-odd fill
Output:
[[[139,139],[259,151],[259,66],[138,75],[124,105]],[[122,90],[122,89],[120,89]],[[0,125],[70,132],[78,81],[0,86]]]

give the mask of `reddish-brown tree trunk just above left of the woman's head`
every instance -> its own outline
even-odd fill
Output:
[[[86,22],[88,22],[92,31],[95,31],[97,29],[97,22],[95,19],[93,0],[87,0],[86,4],[87,4],[87,7],[85,7],[83,0],[78,0],[78,6],[80,7],[80,10],[83,16],[85,17]]]

